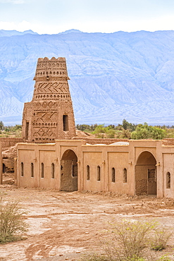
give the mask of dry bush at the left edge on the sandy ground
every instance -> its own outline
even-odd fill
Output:
[[[0,243],[15,241],[18,233],[27,231],[27,224],[22,216],[18,202],[0,202]]]

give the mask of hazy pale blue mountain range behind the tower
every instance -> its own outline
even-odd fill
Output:
[[[37,59],[66,57],[76,123],[174,124],[174,31],[0,30],[0,120],[21,123]]]

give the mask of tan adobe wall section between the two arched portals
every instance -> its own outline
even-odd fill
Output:
[[[82,146],[82,179],[81,190],[111,191],[114,193],[132,193],[131,178],[128,175],[124,183],[124,169],[129,173],[129,146]],[[89,177],[87,169],[89,166]],[[115,181],[112,181],[112,169],[115,169]],[[98,171],[100,169],[100,178]]]

